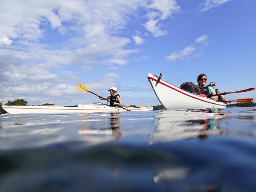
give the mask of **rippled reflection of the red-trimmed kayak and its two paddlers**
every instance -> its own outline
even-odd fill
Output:
[[[226,115],[216,110],[161,111],[155,117],[158,119],[156,129],[149,136],[150,144],[195,137],[207,139],[209,135],[226,133],[217,123],[217,119],[224,119]]]

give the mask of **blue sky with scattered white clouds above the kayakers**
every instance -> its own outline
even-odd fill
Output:
[[[0,102],[160,105],[148,73],[256,87],[254,0],[0,0]],[[256,99],[256,91],[228,99]]]

